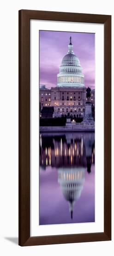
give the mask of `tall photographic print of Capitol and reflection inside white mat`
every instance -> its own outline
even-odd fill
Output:
[[[95,222],[95,34],[39,31],[39,224]]]

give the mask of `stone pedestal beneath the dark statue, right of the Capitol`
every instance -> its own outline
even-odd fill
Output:
[[[90,102],[86,102],[85,103],[85,115],[84,115],[84,118],[83,118],[83,121],[82,123],[85,123],[85,124],[94,124],[94,119],[92,117],[92,109],[91,109],[91,106],[92,104]]]

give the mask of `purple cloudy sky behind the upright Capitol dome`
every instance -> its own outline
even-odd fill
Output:
[[[73,51],[79,58],[85,86],[95,87],[95,34],[40,31],[40,85],[57,85],[57,74],[72,36]]]

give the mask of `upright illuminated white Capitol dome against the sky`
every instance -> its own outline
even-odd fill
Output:
[[[84,74],[78,57],[73,52],[72,38],[68,45],[68,52],[63,57],[57,75],[58,87],[84,87]]]

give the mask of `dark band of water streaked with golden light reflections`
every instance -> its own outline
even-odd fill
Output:
[[[50,136],[51,137],[51,136]],[[73,139],[71,141],[65,140],[62,137],[59,137],[59,140],[54,138],[53,147],[52,142],[48,140],[48,144],[44,147],[44,138],[43,135],[40,136],[40,165],[42,166],[74,166],[82,165],[88,166],[95,163],[95,147],[91,142],[91,137],[88,140],[84,140],[84,135],[81,135],[77,140]],[[42,140],[42,141],[41,141]],[[49,145],[50,144],[50,145]]]

